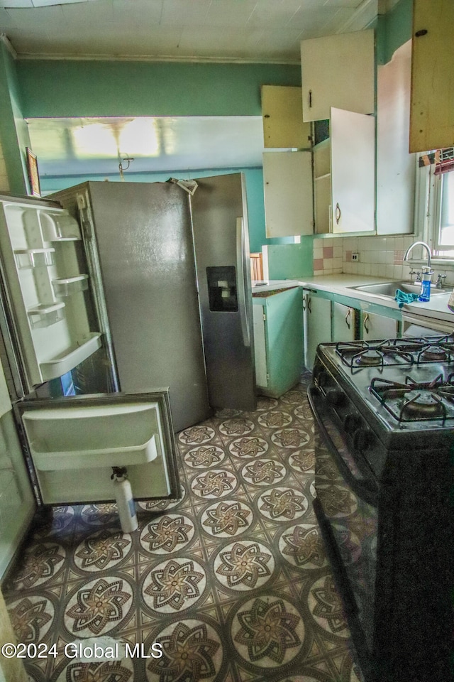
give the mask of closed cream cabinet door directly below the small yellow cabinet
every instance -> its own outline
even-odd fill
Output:
[[[265,152],[263,188],[267,237],[313,234],[310,151]]]

